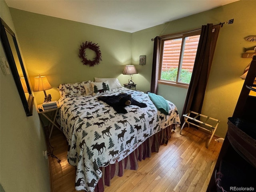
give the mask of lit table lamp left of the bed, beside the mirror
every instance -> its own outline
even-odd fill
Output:
[[[44,91],[44,102],[48,102],[52,100],[52,97],[50,94],[48,96],[46,95],[45,90],[51,89],[52,86],[48,82],[46,76],[38,76],[34,77],[35,84],[34,84],[34,91]]]

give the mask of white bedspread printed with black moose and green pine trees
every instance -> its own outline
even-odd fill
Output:
[[[76,166],[76,190],[93,192],[102,177],[100,167],[119,162],[148,137],[170,126],[180,124],[176,106],[168,101],[165,115],[156,109],[148,94],[116,88],[104,96],[131,94],[147,105],[126,106],[127,113],[117,113],[98,96],[61,98],[57,121],[68,141],[68,162]]]

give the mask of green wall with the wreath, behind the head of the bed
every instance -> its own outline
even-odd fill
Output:
[[[31,83],[34,84],[34,76],[47,76],[53,89],[46,93],[52,95],[52,100],[59,99],[57,87],[61,83],[94,80],[94,77],[128,82],[130,76],[122,71],[131,64],[132,34],[13,8],[11,12]],[[100,46],[100,64],[89,67],[81,62],[78,52],[86,41]],[[42,103],[44,93],[34,94],[38,103]]]

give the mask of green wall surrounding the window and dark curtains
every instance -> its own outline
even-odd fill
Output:
[[[152,70],[151,38],[201,28],[207,23],[218,24],[234,18],[233,24],[225,24],[220,29],[218,42],[212,62],[208,86],[202,108],[202,114],[221,120],[216,135],[224,137],[227,131],[227,118],[232,116],[244,80],[240,78],[251,58],[242,58],[244,47],[251,47],[255,42],[247,42],[244,37],[255,35],[256,25],[252,16],[256,10],[253,0],[240,0],[212,10],[194,14],[186,18],[161,24],[132,34],[132,59],[138,62],[140,54],[147,55],[145,78],[150,80]],[[150,87],[150,81],[145,81]],[[187,89],[158,86],[158,94],[174,102],[181,115]]]

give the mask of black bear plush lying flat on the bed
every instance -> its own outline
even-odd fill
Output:
[[[124,107],[128,105],[136,105],[142,108],[147,106],[145,103],[140,103],[134,100],[131,95],[128,95],[126,93],[112,96],[99,96],[98,100],[104,101],[108,105],[112,106],[114,110],[118,113],[127,113]]]

